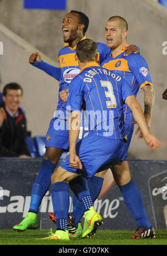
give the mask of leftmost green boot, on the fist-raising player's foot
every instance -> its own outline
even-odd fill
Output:
[[[25,231],[26,229],[38,228],[37,214],[34,212],[28,212],[26,218],[21,223],[13,226],[14,231]]]

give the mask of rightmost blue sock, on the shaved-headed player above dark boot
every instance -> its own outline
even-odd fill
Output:
[[[151,224],[146,215],[140,192],[135,183],[131,180],[126,185],[120,186],[120,190],[127,208],[137,221],[137,226],[139,228],[150,228]]]

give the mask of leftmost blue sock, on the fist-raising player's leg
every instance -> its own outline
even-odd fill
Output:
[[[56,165],[54,163],[45,159],[42,160],[40,171],[36,177],[35,183],[33,184],[29,211],[38,212],[43,196],[45,196],[50,187],[51,176],[55,167]]]

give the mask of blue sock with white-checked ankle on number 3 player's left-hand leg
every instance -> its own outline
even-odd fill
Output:
[[[66,182],[56,182],[51,190],[53,212],[57,219],[57,229],[67,230],[68,209],[70,205],[68,185]]]

